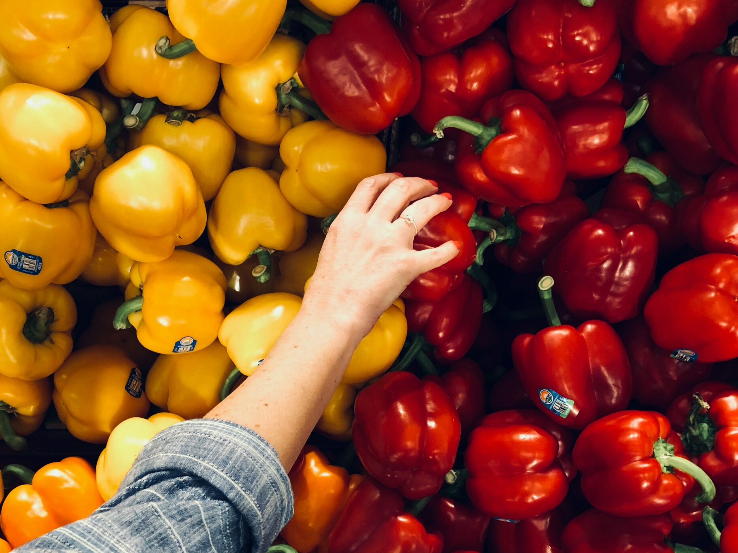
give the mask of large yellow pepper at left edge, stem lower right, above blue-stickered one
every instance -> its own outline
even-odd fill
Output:
[[[7,86],[0,92],[0,178],[38,204],[65,200],[105,133],[100,112],[84,100],[36,85]]]

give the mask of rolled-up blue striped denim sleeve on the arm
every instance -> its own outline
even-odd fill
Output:
[[[18,553],[263,552],[292,518],[277,453],[232,422],[190,420],[142,450],[119,492]]]

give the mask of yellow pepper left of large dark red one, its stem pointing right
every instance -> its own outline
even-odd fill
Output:
[[[252,63],[221,68],[223,91],[218,105],[234,131],[252,142],[276,146],[294,125],[307,121],[306,114],[285,108],[277,98],[277,86],[297,78],[304,54],[305,44],[277,33]],[[309,97],[303,89],[300,94]]]

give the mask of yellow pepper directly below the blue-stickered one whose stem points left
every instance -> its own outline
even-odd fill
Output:
[[[165,411],[199,419],[218,405],[233,366],[227,349],[217,340],[190,355],[159,355],[146,377],[146,395]]]

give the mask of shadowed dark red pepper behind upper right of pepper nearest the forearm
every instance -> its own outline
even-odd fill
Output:
[[[484,375],[476,361],[456,361],[443,375],[423,378],[444,389],[458,413],[461,437],[466,439],[472,428],[484,416]],[[458,548],[463,549],[463,548]]]

